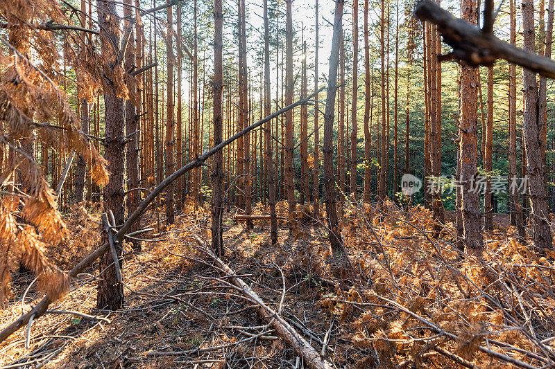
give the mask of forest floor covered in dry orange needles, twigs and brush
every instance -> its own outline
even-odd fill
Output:
[[[287,204],[278,204],[285,215]],[[265,213],[257,206],[255,213]],[[50,257],[69,269],[100,244],[100,206],[74,206],[71,241]],[[496,219],[497,220],[497,219]],[[536,368],[555,360],[555,253],[544,258],[517,242],[503,216],[486,234],[482,258],[461,257],[454,226],[434,236],[420,207],[403,210],[349,204],[343,242],[352,268],[338,267],[327,231],[299,207],[279,245],[269,222],[248,230],[224,220],[223,260],[337,368]],[[125,308],[96,309],[98,264],[74,281],[28,334],[0,345],[4,368],[305,368],[302,359],[260,318],[252,303],[225,285],[202,246],[210,211],[188,205],[176,224],[158,231],[123,262]],[[15,298],[0,327],[42,296],[33,276],[15,273]],[[31,287],[29,285],[32,284]],[[324,346],[324,348],[323,348]]]

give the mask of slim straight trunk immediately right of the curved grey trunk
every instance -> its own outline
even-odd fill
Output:
[[[359,100],[359,0],[352,1],[352,104],[351,104],[351,196],[357,195],[357,101]]]

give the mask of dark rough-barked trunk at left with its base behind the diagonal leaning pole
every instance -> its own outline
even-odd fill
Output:
[[[101,32],[102,49],[105,52],[104,69],[109,73],[117,67],[117,50],[114,44],[119,44],[119,35],[116,33],[119,26],[119,17],[114,3],[97,0],[99,11],[99,26]],[[120,81],[121,83],[122,81]],[[110,179],[104,187],[104,211],[112,210],[116,224],[123,223],[123,163],[125,158],[123,143],[123,100],[117,96],[117,87],[114,80],[106,80],[108,89],[104,93],[105,107],[105,159],[108,161]],[[103,233],[104,242],[108,241],[108,234]],[[121,249],[116,247],[119,258]],[[120,268],[123,260],[119,260]],[[123,286],[117,278],[114,258],[111,253],[105,253],[99,263],[99,287],[96,306],[100,309],[121,309],[123,307]]]

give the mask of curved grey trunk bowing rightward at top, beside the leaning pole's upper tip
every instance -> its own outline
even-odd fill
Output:
[[[334,253],[343,253],[343,242],[341,241],[341,230],[337,219],[335,181],[333,165],[333,125],[335,96],[337,93],[337,64],[339,64],[339,47],[343,34],[343,5],[345,0],[336,0],[334,32],[332,37],[332,51],[330,54],[330,71],[327,75],[327,97],[324,113],[324,187],[325,207],[327,213],[327,226],[330,232],[330,244]]]

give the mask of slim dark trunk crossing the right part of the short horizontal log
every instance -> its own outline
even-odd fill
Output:
[[[270,24],[268,19],[268,0],[264,0],[264,79],[266,99],[264,100],[264,114],[271,114],[271,82],[270,82]],[[316,97],[318,100],[318,97]],[[268,180],[268,199],[270,205],[270,223],[272,244],[278,243],[278,219],[275,215],[275,181],[273,172],[273,152],[271,141],[271,120],[265,125],[266,130],[266,178]]]

